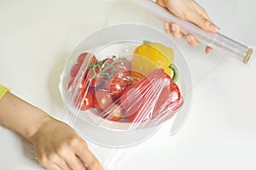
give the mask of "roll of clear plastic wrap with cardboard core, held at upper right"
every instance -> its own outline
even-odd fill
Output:
[[[166,8],[160,7],[160,5],[154,3],[151,0],[132,0],[133,3],[137,3],[141,7],[145,8],[148,13],[154,14],[156,17],[164,20],[166,22],[174,22],[180,26],[181,31],[184,33],[191,33],[197,40],[207,46],[220,49],[226,54],[240,60],[244,64],[247,64],[251,55],[253,54],[253,48],[249,48],[246,45],[236,42],[230,37],[226,37],[220,33],[211,33],[202,30],[200,27],[195,26],[195,24],[187,21],[180,20],[172,13],[170,13]]]

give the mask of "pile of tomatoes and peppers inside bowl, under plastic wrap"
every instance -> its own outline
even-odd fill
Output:
[[[173,65],[173,53],[172,59],[166,57],[172,48],[156,42],[148,47],[145,45],[126,57],[110,55],[97,59],[89,52],[79,54],[70,69],[71,79],[67,84],[69,89],[76,91],[73,107],[80,111],[90,110],[114,122],[154,119],[163,122],[171,118],[183,104],[176,84],[178,73]],[[138,48],[143,48],[143,52],[138,53]],[[79,75],[82,63],[85,63],[84,71]],[[166,72],[172,72],[172,77]],[[74,80],[79,82],[74,83]]]

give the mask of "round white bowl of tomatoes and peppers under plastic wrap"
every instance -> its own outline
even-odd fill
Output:
[[[85,139],[126,147],[189,111],[191,77],[169,37],[136,24],[109,26],[70,54],[60,91],[70,124]],[[180,119],[180,118],[179,118]]]

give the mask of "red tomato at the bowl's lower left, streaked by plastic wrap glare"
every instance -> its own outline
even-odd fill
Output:
[[[90,109],[93,105],[93,96],[89,91],[81,90],[75,98],[75,106],[81,111]]]

